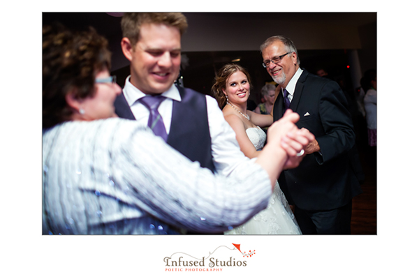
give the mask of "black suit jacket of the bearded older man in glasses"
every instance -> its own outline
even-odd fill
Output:
[[[280,91],[281,92],[281,91]],[[274,104],[274,120],[283,115],[281,93]],[[346,98],[339,85],[304,70],[297,81],[291,110],[300,115],[298,128],[314,134],[321,148],[304,157],[300,166],[282,172],[279,185],[288,202],[304,210],[322,211],[348,204],[362,193],[355,175],[355,133]]]

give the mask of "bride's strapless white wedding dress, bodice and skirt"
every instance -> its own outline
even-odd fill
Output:
[[[262,129],[248,128],[246,133],[256,150],[263,148],[266,134]],[[224,234],[301,234],[301,230],[277,182],[266,209]]]

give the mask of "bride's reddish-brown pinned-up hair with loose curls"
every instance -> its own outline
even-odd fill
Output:
[[[218,102],[221,110],[227,103],[227,98],[226,95],[223,93],[223,89],[226,90],[228,78],[236,72],[244,73],[251,87],[250,75],[245,68],[234,63],[226,64],[223,67],[221,67],[221,69],[219,69],[217,75],[214,78],[214,85],[212,85],[211,88],[212,94]]]

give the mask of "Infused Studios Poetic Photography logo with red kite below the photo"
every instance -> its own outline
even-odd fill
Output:
[[[250,257],[256,254],[255,250],[242,252],[240,244],[233,247],[219,246],[207,257],[195,257],[186,252],[175,252],[170,257],[163,259],[165,271],[223,271],[227,268],[245,268]]]

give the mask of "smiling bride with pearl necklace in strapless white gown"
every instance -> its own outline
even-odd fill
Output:
[[[255,158],[266,140],[266,134],[260,127],[270,126],[273,119],[271,115],[246,110],[250,89],[249,73],[237,64],[223,66],[212,86],[224,118],[236,133],[240,149],[245,156]],[[225,234],[301,234],[301,231],[277,183],[265,210]]]

